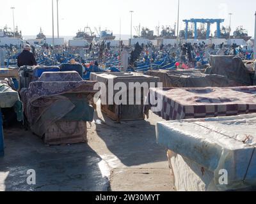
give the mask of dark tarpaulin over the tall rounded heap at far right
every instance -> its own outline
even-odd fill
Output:
[[[226,76],[231,81],[230,85],[253,85],[250,71],[241,58],[211,55],[209,62],[210,67],[205,73]]]

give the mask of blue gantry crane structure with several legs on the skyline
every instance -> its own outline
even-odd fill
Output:
[[[211,24],[217,24],[217,38],[220,38],[221,36],[221,29],[220,29],[220,24],[224,22],[224,19],[204,19],[204,18],[191,18],[189,20],[183,20],[186,24],[186,29],[185,29],[185,39],[188,40],[188,24],[194,24],[194,38],[195,40],[197,39],[197,24],[207,24],[207,31],[206,31],[206,39],[209,39],[210,36],[210,30],[211,30]]]

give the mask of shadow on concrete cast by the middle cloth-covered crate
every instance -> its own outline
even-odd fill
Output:
[[[97,135],[125,166],[167,161],[166,151],[156,142],[156,126],[148,120],[117,123],[98,109],[94,121]]]

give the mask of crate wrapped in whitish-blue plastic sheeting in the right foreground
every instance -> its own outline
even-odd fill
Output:
[[[178,191],[256,186],[256,114],[158,122],[157,142],[168,152]],[[225,184],[220,179],[227,172]],[[222,173],[220,173],[222,172]]]

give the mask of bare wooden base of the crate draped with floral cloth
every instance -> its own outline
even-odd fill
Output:
[[[58,121],[51,124],[44,136],[49,145],[87,142],[87,128],[84,121]]]

